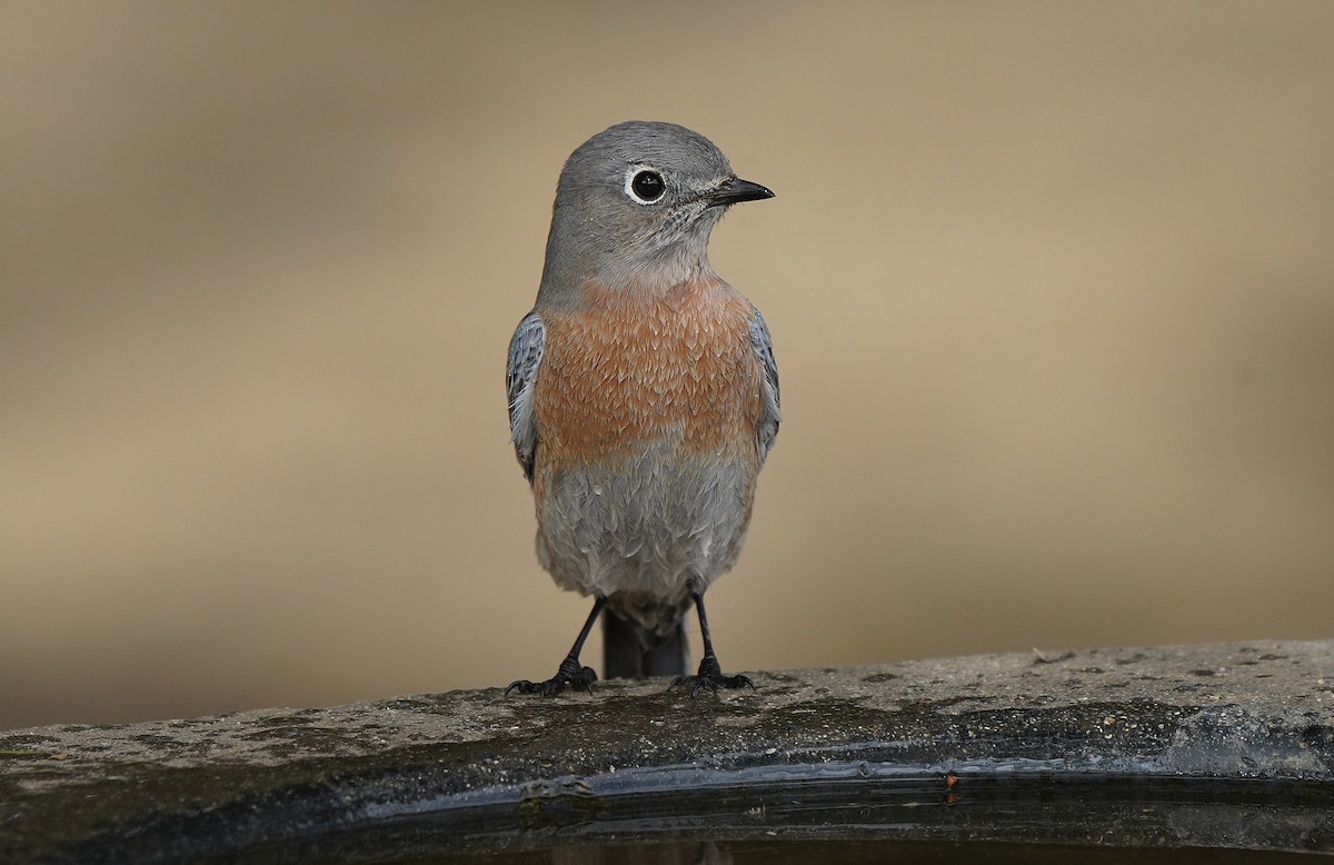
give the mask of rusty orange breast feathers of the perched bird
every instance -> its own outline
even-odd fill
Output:
[[[539,471],[663,441],[682,457],[754,458],[762,372],[744,298],[711,278],[658,292],[590,284],[583,299],[542,312]]]

